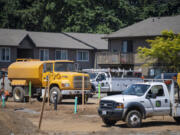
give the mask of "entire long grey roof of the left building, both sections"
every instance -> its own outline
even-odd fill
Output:
[[[31,32],[18,29],[0,29],[0,45],[19,46],[29,36],[36,47],[67,49],[108,49],[103,34]]]

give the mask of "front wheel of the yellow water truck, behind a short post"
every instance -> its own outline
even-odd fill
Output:
[[[57,103],[59,104],[61,103],[61,100],[62,100],[62,94],[58,87],[52,87],[50,89],[50,102],[54,104],[55,93],[57,94]]]

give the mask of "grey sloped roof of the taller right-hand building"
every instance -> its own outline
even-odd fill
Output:
[[[148,18],[113,32],[104,38],[159,36],[163,30],[172,30],[175,34],[180,33],[180,15]]]

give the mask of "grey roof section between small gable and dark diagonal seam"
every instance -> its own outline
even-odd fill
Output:
[[[37,47],[93,49],[62,33],[28,32],[28,34]]]

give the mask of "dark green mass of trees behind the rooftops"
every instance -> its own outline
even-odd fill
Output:
[[[175,14],[179,0],[0,0],[0,28],[30,31],[111,33]]]

